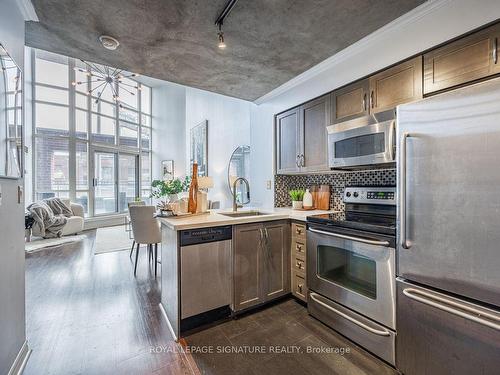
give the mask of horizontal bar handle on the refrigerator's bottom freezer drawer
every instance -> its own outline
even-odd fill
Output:
[[[408,298],[500,331],[500,316],[414,288],[403,289]],[[452,306],[452,307],[451,307]],[[460,310],[458,310],[458,309]],[[488,318],[483,319],[482,317]],[[491,321],[493,320],[493,321]],[[498,323],[496,323],[498,322]]]

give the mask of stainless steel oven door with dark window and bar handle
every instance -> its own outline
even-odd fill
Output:
[[[309,225],[309,289],[395,329],[395,252],[391,239]],[[308,270],[309,271],[309,270]]]

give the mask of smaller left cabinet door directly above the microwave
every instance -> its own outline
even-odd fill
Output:
[[[368,115],[368,91],[369,81],[366,79],[332,92],[330,123],[337,124]]]

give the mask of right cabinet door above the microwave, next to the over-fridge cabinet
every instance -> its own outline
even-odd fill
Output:
[[[422,98],[422,56],[370,77],[370,113]]]

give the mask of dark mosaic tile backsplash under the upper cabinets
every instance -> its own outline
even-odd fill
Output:
[[[396,169],[338,171],[328,174],[274,176],[274,206],[292,205],[288,191],[311,185],[330,185],[330,209],[343,211],[342,197],[346,186],[395,186]]]

